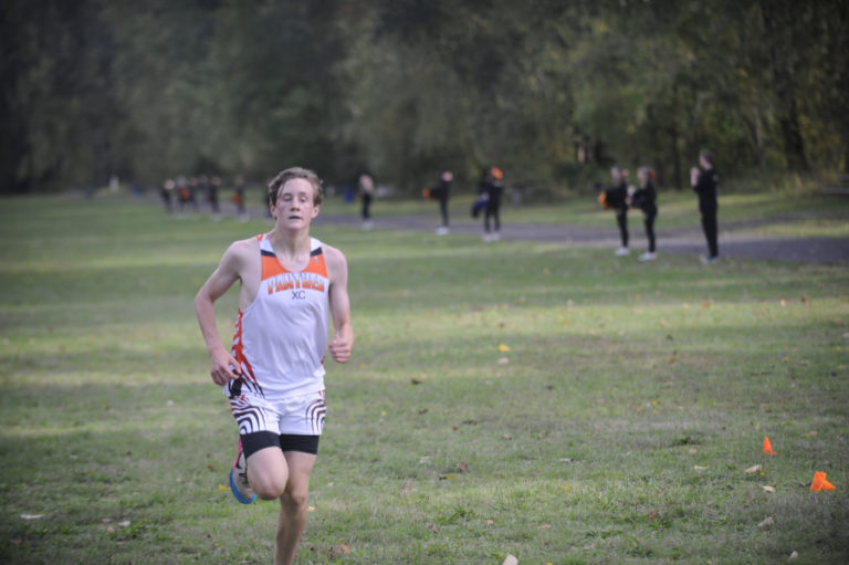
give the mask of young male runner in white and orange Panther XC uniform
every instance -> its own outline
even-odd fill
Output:
[[[224,386],[239,425],[233,494],[245,504],[256,495],[280,499],[275,564],[294,561],[306,523],[310,473],[326,410],[325,350],[346,363],[354,343],[345,255],[310,237],[321,203],[315,172],[281,171],[269,184],[274,228],[232,243],[195,299],[212,380]],[[239,317],[228,353],[213,305],[235,281]]]

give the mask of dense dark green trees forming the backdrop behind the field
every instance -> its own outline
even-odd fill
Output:
[[[849,165],[849,2],[9,0],[0,190]]]

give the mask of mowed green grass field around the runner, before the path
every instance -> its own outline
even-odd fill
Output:
[[[270,562],[277,506],[229,493],[191,304],[266,229],[0,201],[0,562]],[[328,362],[298,563],[849,559],[846,266],[315,236],[348,258],[357,342]]]

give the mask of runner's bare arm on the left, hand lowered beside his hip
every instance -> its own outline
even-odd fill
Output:
[[[218,335],[214,303],[235,281],[241,279],[244,268],[243,248],[244,245],[239,241],[230,245],[218,268],[195,296],[195,313],[209,352],[210,375],[217,385],[224,385],[228,380],[241,375],[239,363],[224,348]]]

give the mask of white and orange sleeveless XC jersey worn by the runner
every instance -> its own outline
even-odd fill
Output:
[[[256,297],[239,311],[233,357],[243,377],[224,387],[228,396],[274,399],[324,390],[329,280],[322,242],[310,239],[310,263],[286,270],[263,233],[262,280]]]

